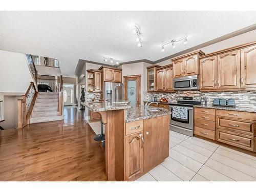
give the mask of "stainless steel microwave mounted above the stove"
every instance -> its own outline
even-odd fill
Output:
[[[198,75],[173,79],[174,90],[198,90]]]

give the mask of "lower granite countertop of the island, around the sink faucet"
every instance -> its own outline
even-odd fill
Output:
[[[163,108],[148,108],[148,109],[161,109],[161,111],[144,110],[144,106],[132,106],[130,109],[125,110],[125,122],[138,121],[142,119],[150,119],[169,115],[170,111]]]

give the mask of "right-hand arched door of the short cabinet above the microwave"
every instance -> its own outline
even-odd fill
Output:
[[[184,76],[198,75],[198,55],[184,58]]]

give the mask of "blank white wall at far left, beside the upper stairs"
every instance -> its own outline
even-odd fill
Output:
[[[26,93],[31,81],[26,55],[0,50],[0,92]]]

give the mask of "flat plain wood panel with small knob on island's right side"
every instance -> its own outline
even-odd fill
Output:
[[[169,155],[169,120],[169,115],[144,119],[144,174]]]

